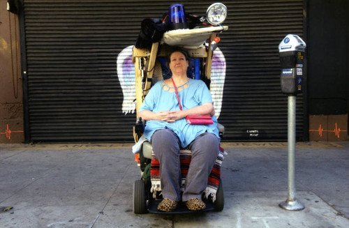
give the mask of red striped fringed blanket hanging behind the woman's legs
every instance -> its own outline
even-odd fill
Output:
[[[219,186],[219,179],[221,178],[221,165],[225,155],[225,151],[221,146],[219,147],[219,154],[217,156],[216,162],[214,162],[214,167],[209,175],[207,182],[207,187],[205,190],[205,197],[212,197],[212,200],[216,200],[216,192]],[[181,188],[184,189],[184,183],[186,180],[186,175],[188,174],[188,168],[191,164],[191,151],[181,150],[180,153],[181,160]],[[154,152],[151,153],[151,169],[150,169],[150,178],[151,178],[151,192],[153,193],[154,198],[156,197],[156,192],[161,191],[160,184],[160,163],[156,159]]]

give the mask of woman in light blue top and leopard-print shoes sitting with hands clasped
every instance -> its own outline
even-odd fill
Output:
[[[217,120],[206,84],[187,77],[188,54],[173,50],[168,65],[172,77],[154,84],[138,112],[147,121],[144,135],[151,141],[160,162],[163,201],[158,204],[158,210],[174,211],[182,201],[189,210],[200,211],[206,208],[202,192],[219,153]],[[214,123],[191,125],[185,119],[188,115],[210,115]],[[179,151],[186,147],[192,157],[181,192]]]

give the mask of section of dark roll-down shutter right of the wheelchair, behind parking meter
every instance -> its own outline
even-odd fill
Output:
[[[288,98],[281,93],[278,46],[289,33],[304,37],[303,1],[229,1],[223,112],[226,139],[287,139]],[[306,86],[304,85],[304,88]],[[297,96],[297,138],[304,137],[303,97]]]

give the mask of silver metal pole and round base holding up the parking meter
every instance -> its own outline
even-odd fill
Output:
[[[296,199],[295,158],[296,158],[296,96],[288,96],[288,199],[279,204],[288,211],[300,211],[304,205]]]

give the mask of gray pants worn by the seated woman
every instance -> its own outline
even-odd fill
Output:
[[[160,162],[161,190],[164,199],[186,202],[201,199],[207,186],[207,179],[219,153],[216,135],[205,132],[189,144],[191,165],[186,176],[184,192],[181,195],[181,167],[179,160],[180,142],[170,129],[156,130],[151,137],[153,151]]]

